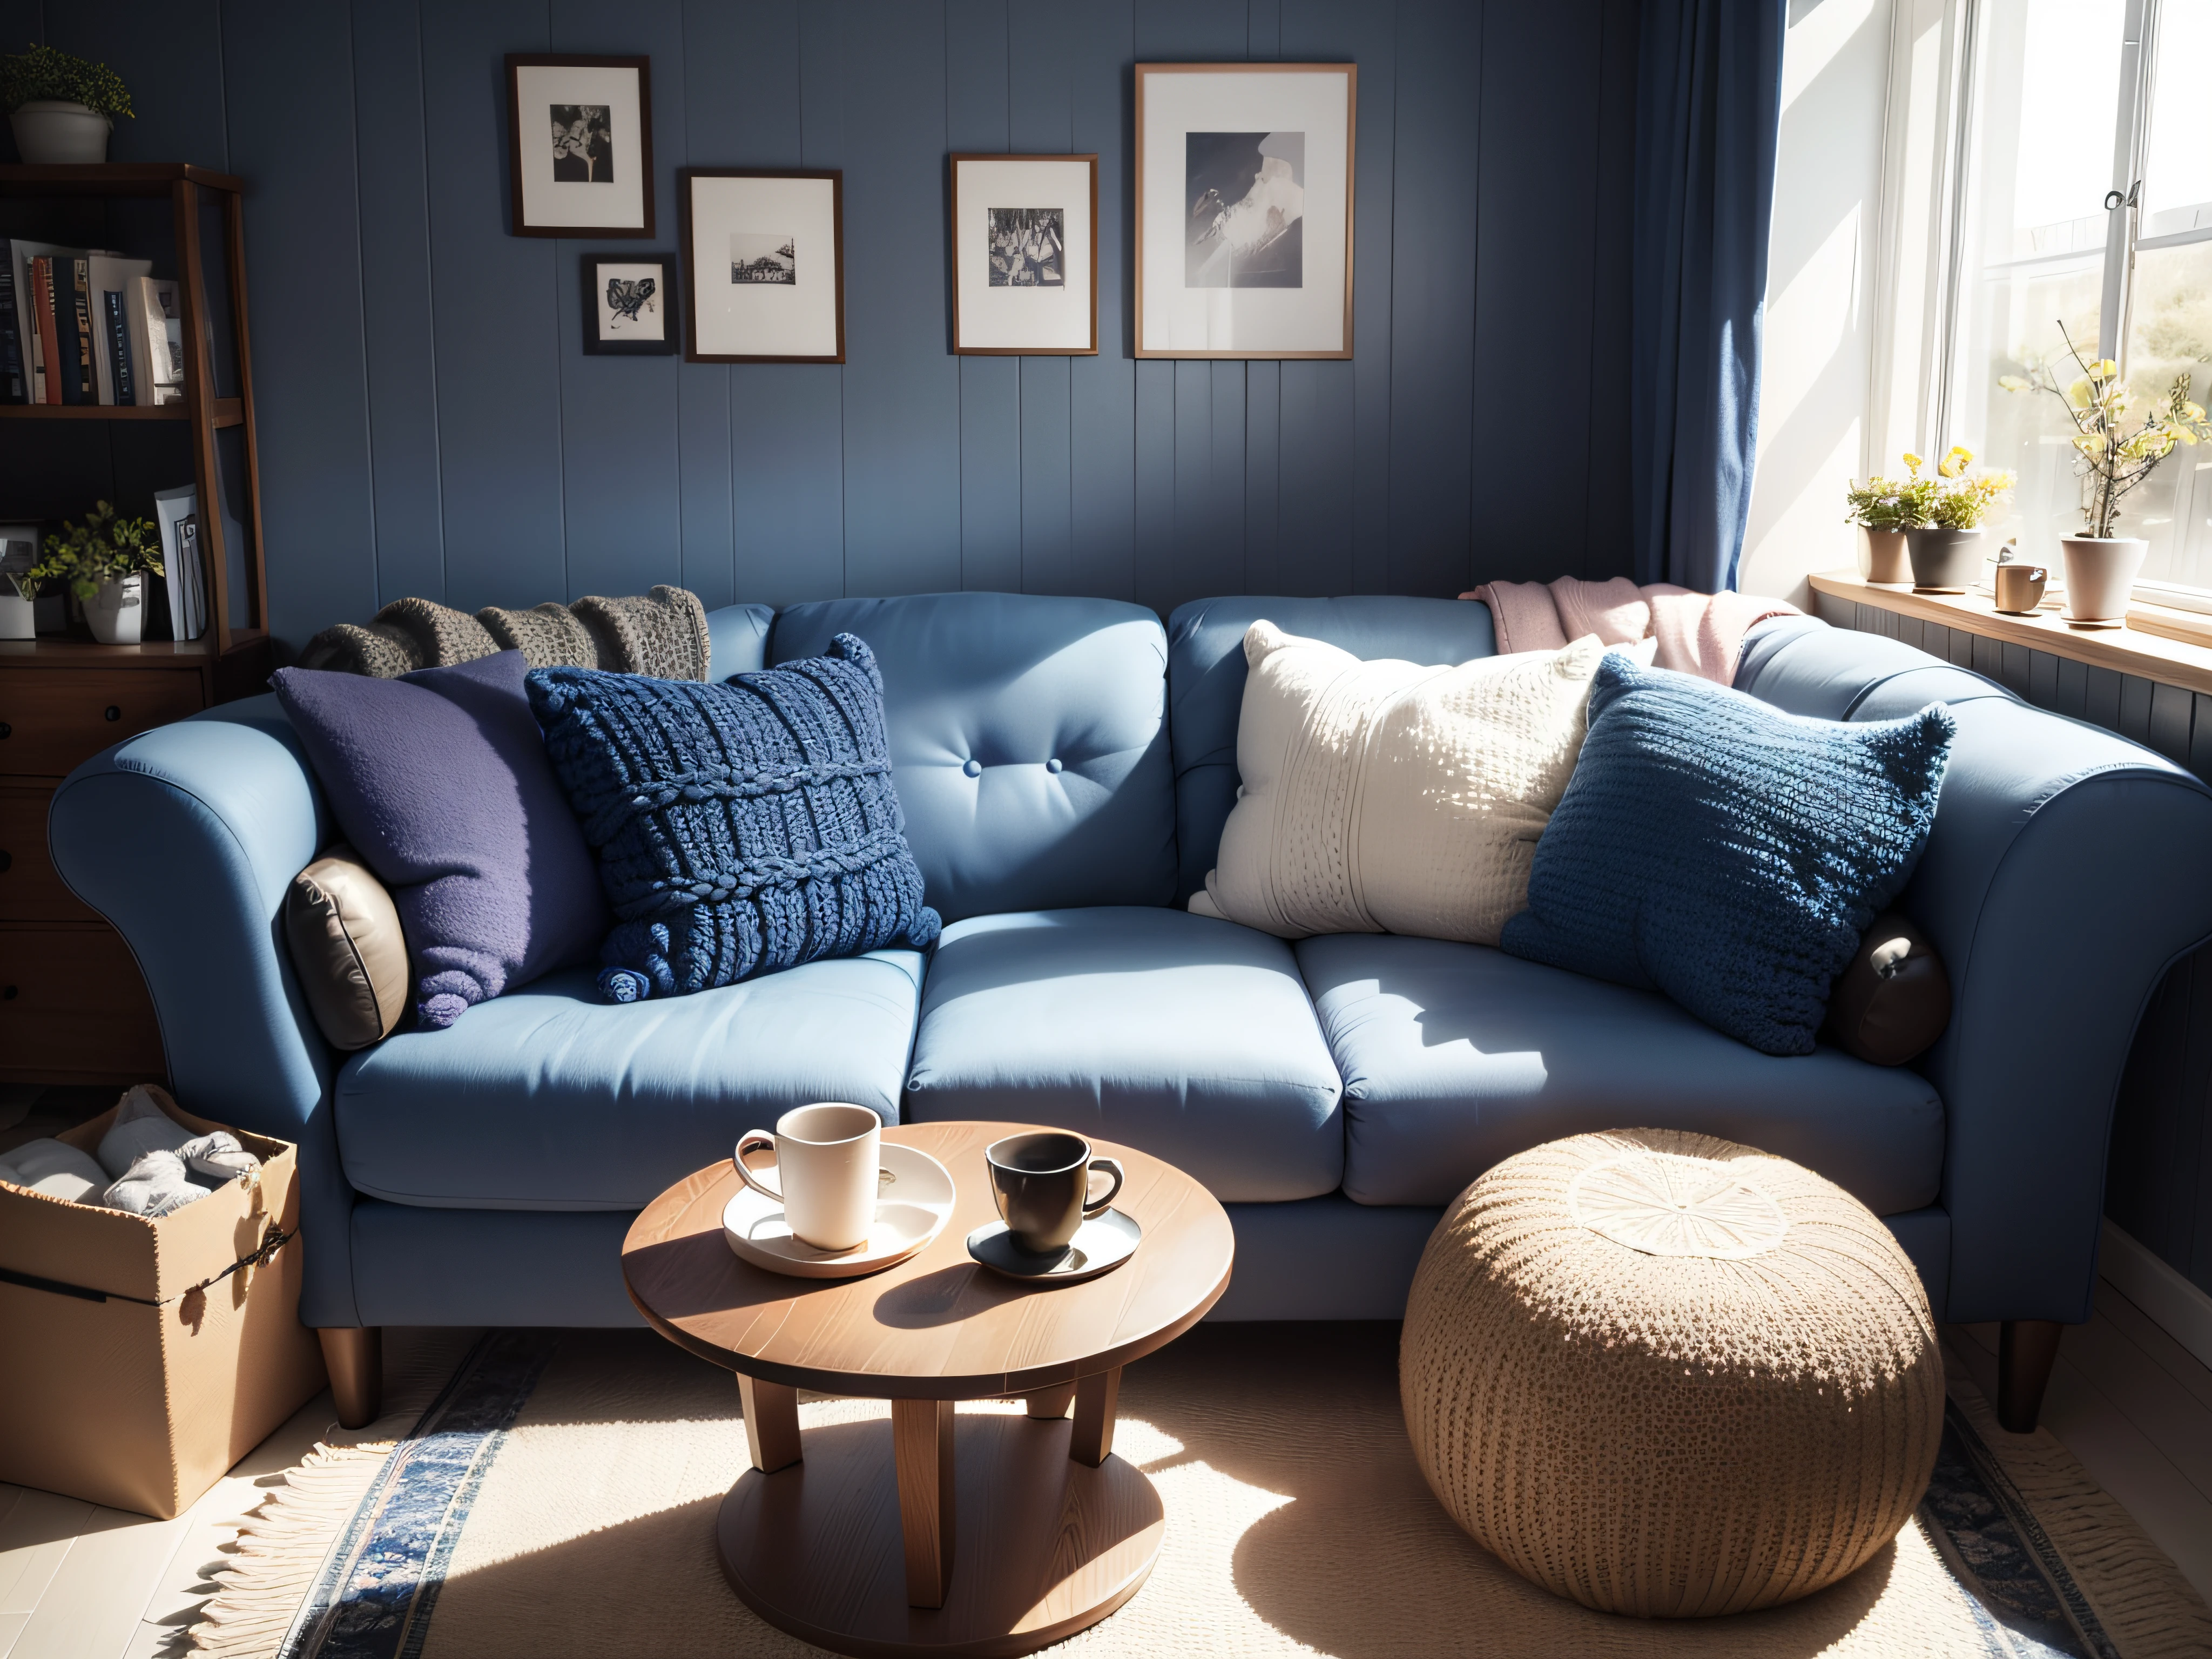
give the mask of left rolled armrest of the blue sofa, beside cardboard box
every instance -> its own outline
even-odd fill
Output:
[[[354,1325],[352,1206],[330,1113],[332,1053],[283,945],[292,876],[334,836],[274,697],[95,754],[53,796],[62,880],[131,945],[177,1099],[301,1148],[301,1318]]]

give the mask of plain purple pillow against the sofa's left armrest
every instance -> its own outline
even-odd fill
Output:
[[[608,929],[524,672],[522,653],[502,650],[400,679],[274,677],[338,827],[392,889],[425,1026],[591,962]]]

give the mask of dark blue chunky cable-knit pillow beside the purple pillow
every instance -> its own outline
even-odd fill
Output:
[[[599,949],[611,1002],[936,942],[891,790],[883,675],[849,633],[827,657],[721,686],[538,668],[529,688],[615,907]]]

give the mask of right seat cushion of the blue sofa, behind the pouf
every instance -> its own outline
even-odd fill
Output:
[[[1763,1055],[1655,991],[1486,945],[1340,933],[1296,951],[1345,1077],[1360,1203],[1447,1203],[1515,1152],[1606,1128],[1778,1152],[1876,1214],[1936,1201],[1942,1102],[1916,1071],[1827,1044]]]

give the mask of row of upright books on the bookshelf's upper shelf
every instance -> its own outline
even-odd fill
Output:
[[[0,403],[184,400],[177,283],[153,261],[0,237]]]

